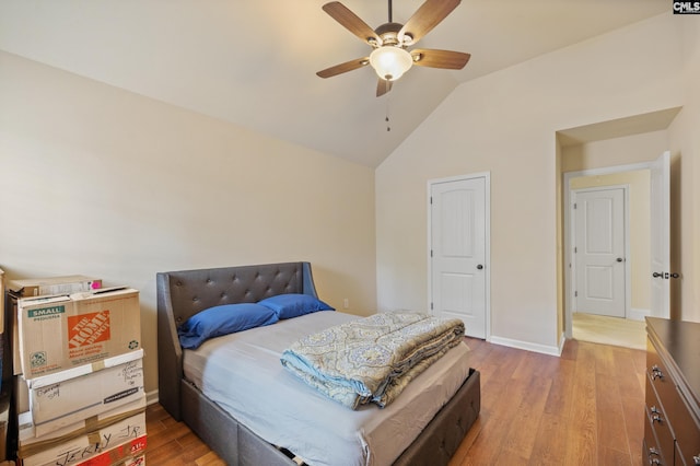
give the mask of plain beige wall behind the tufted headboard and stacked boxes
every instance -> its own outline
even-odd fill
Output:
[[[0,265],[141,292],[156,388],[155,273],[310,260],[320,296],[375,311],[374,173],[0,53]]]

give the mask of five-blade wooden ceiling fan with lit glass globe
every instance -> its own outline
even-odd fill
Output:
[[[392,83],[399,79],[412,65],[430,68],[460,70],[469,61],[470,55],[462,51],[435,50],[408,47],[416,45],[425,34],[444,20],[462,0],[427,0],[406,24],[392,20],[392,0],[388,0],[388,22],[372,30],[352,11],[339,1],[323,5],[323,10],[361,40],[372,47],[369,57],[362,57],[318,71],[320,78],[330,78],[371,65],[380,80],[376,96],[392,90]]]

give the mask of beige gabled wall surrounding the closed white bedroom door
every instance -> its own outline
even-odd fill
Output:
[[[427,180],[489,171],[490,331],[557,348],[556,132],[696,98],[681,86],[697,58],[685,60],[680,44],[677,19],[664,14],[457,88],[376,171],[378,307],[427,306]],[[697,114],[689,121],[700,125]],[[682,156],[696,156],[690,144]]]

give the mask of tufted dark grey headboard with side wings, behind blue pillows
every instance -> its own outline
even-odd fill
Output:
[[[318,298],[310,263],[264,264],[156,273],[159,401],[180,419],[183,350],[177,326],[206,308],[283,293]]]

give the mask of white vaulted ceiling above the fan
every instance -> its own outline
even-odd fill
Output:
[[[357,163],[378,165],[455,86],[666,13],[667,0],[464,0],[418,44],[464,70],[413,67],[375,97],[369,54],[326,0],[0,0],[0,49]],[[342,0],[376,27],[384,0]],[[422,0],[395,0],[405,23]],[[390,118],[387,131],[385,117]]]

